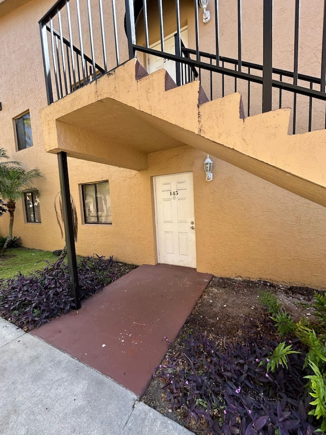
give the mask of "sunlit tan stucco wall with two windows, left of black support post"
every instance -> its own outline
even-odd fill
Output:
[[[6,148],[12,159],[23,162],[26,169],[38,166],[45,175],[35,182],[40,192],[42,223],[24,223],[23,206],[18,201],[14,234],[22,237],[25,246],[41,249],[51,249],[56,238],[60,238],[56,218],[52,215],[55,192],[60,189],[57,159],[44,152],[39,116],[40,109],[46,105],[46,93],[38,18],[51,3],[51,0],[29,2],[0,18],[0,100],[3,107],[0,112],[0,147]],[[31,113],[34,145],[16,152],[13,118],[26,110]],[[0,219],[2,235],[8,231],[7,215]]]

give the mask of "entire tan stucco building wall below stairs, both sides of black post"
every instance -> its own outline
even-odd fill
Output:
[[[37,21],[52,3],[32,0],[0,18],[0,47],[6,47],[0,54],[0,83],[5,84],[0,97],[0,147],[22,161],[26,169],[38,166],[44,173],[44,178],[35,182],[42,223],[25,223],[18,201],[14,234],[22,237],[25,246],[49,250],[64,243],[53,210],[60,189],[57,158],[44,150],[39,115],[47,103]],[[69,112],[71,108],[65,109]],[[16,152],[12,119],[26,110],[31,112],[34,145]],[[192,110],[198,116],[197,107]],[[79,219],[77,253],[113,254],[123,261],[154,264],[151,177],[193,171],[199,271],[326,288],[325,208],[218,158],[213,158],[214,180],[206,183],[205,157],[188,146],[158,151],[149,154],[148,169],[139,172],[68,159]],[[85,225],[79,185],[101,180],[110,181],[113,224]],[[2,235],[7,227],[8,216],[3,216]]]

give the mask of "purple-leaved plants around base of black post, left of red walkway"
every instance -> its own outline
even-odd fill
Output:
[[[80,298],[97,293],[117,278],[113,258],[87,257],[78,264]],[[25,330],[39,327],[74,308],[68,266],[49,264],[30,276],[0,279],[0,316]]]

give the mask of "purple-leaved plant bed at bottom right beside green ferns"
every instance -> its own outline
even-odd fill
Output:
[[[305,352],[291,354],[287,369],[267,374],[267,356],[278,342],[250,321],[237,342],[223,350],[205,335],[187,334],[182,343],[183,353],[170,356],[156,376],[166,384],[166,400],[188,421],[205,419],[207,433],[214,435],[312,434]],[[298,346],[294,339],[293,348],[302,350]]]

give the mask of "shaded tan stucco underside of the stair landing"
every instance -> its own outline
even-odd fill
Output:
[[[60,117],[57,132],[61,148],[70,157],[135,170],[147,168],[150,152],[184,146],[144,119],[139,110],[111,98]]]

